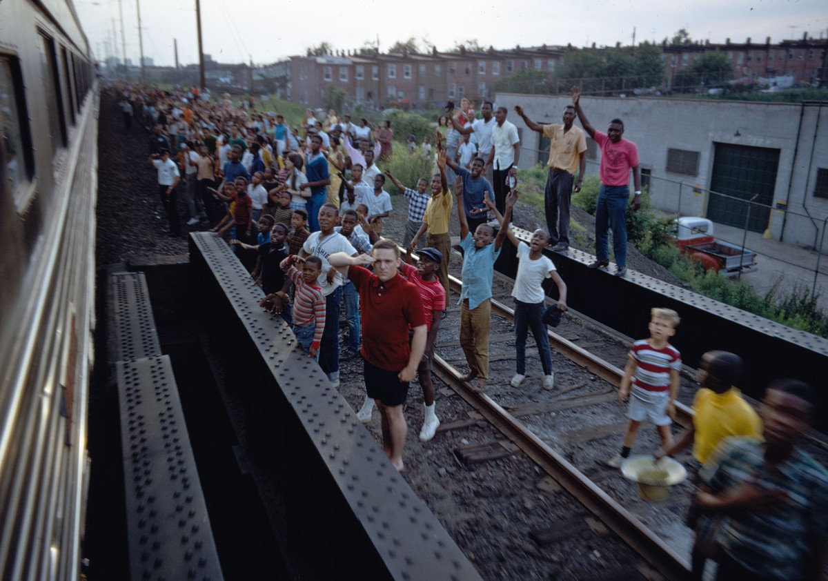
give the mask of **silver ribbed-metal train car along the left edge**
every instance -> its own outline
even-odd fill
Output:
[[[97,96],[71,0],[0,2],[0,571],[76,579],[89,475]]]

